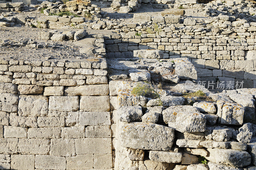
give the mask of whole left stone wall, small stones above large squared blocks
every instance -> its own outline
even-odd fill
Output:
[[[112,168],[105,59],[0,60],[0,169]]]

